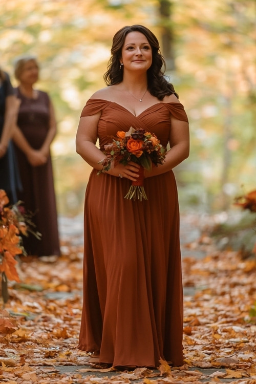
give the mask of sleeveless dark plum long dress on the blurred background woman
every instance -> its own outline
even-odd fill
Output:
[[[46,92],[38,91],[36,99],[27,98],[19,89],[16,95],[21,99],[17,124],[29,144],[39,150],[49,130],[50,100]],[[28,254],[59,255],[59,235],[57,224],[57,208],[54,191],[51,156],[44,165],[31,166],[25,154],[16,148],[19,172],[23,184],[23,193],[19,199],[24,201],[25,208],[35,214],[33,222],[36,230],[42,235],[37,240],[32,234],[24,239],[24,247]]]

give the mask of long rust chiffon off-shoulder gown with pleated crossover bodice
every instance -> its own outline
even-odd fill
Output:
[[[118,103],[90,99],[81,116],[101,111],[100,148],[130,127],[167,145],[181,103],[159,102],[135,117]],[[179,205],[170,170],[146,178],[148,200],[126,200],[131,181],[93,169],[84,206],[83,308],[78,348],[113,366],[183,364]]]

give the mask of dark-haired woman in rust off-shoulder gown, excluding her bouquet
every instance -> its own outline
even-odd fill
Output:
[[[77,152],[92,167],[84,206],[83,308],[78,348],[115,367],[183,364],[179,206],[172,168],[188,157],[188,120],[161,71],[158,40],[124,27],[97,91],[81,113]],[[170,144],[163,165],[144,171],[147,200],[126,200],[138,164],[100,173],[104,145],[130,127]],[[99,148],[96,141],[99,139]]]

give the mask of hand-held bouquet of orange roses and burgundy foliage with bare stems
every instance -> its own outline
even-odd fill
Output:
[[[166,148],[162,146],[154,133],[147,132],[144,129],[135,130],[132,126],[128,132],[118,131],[117,138],[104,146],[106,155],[102,165],[103,168],[98,172],[109,170],[111,163],[114,165],[121,163],[126,165],[133,161],[140,165],[139,177],[124,196],[125,199],[147,200],[143,187],[144,168],[150,170],[152,164],[163,164],[166,154]]]

